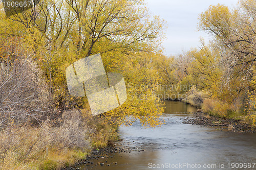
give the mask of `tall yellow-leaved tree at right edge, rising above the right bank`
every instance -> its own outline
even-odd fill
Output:
[[[212,35],[211,46],[218,52],[220,75],[213,91],[218,99],[232,105],[240,105],[243,111],[247,92],[253,87],[255,65],[255,2],[240,1],[232,10],[224,5],[210,6],[200,15],[199,29]],[[210,66],[207,66],[210,68]],[[206,68],[206,70],[207,70]],[[239,109],[238,109],[239,110]]]

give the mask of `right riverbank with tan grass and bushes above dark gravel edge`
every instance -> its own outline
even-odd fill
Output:
[[[234,132],[256,132],[253,120],[242,112],[235,112],[232,109],[221,108],[220,101],[207,98],[205,92],[192,87],[185,93],[186,98],[176,99],[198,108],[196,118],[184,119],[184,124],[211,126],[217,129],[227,129]],[[172,100],[171,100],[172,101]]]

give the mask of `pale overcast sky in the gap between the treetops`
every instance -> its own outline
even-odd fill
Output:
[[[209,36],[197,31],[199,14],[210,5],[224,4],[236,7],[238,0],[145,0],[148,10],[167,22],[166,38],[163,40],[164,54],[177,55],[191,47],[200,46],[200,37],[208,42]]]

